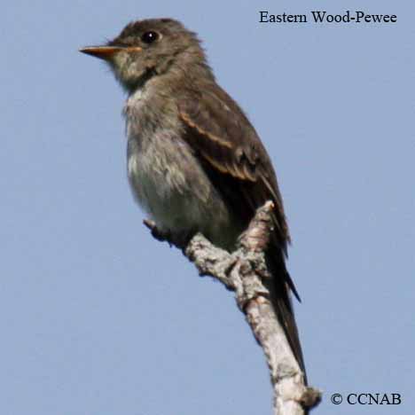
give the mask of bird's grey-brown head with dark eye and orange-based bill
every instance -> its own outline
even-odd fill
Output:
[[[156,75],[185,75],[194,66],[210,71],[197,36],[172,19],[137,20],[105,45],[81,51],[106,60],[129,92]]]

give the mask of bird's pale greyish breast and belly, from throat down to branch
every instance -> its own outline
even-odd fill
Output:
[[[201,231],[230,247],[240,228],[182,138],[178,116],[143,92],[129,100],[125,114],[129,183],[139,204],[161,229]]]

